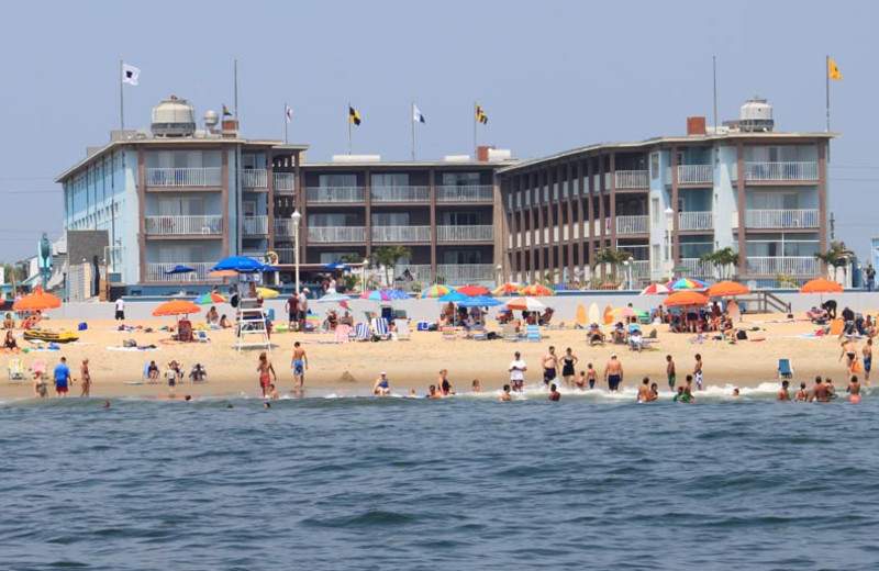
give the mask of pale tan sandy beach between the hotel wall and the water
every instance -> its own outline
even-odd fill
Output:
[[[289,392],[293,388],[290,368],[292,345],[301,342],[310,363],[305,376],[307,395],[309,389],[315,395],[331,392],[368,393],[381,371],[388,372],[394,393],[405,394],[414,389],[419,394],[424,394],[442,368],[448,369],[448,379],[458,390],[469,390],[471,380],[479,379],[483,391],[496,391],[507,382],[507,370],[516,350],[522,352],[528,365],[526,384],[538,383],[542,380],[541,357],[549,345],[554,345],[559,355],[571,347],[579,358],[577,371],[585,369],[587,362],[592,362],[599,380],[602,379],[608,358],[616,352],[624,366],[624,387],[630,388],[639,383],[643,377],[650,377],[659,383],[660,390],[667,390],[666,355],[674,356],[678,379],[682,380],[685,374],[692,371],[697,352],[702,355],[706,385],[755,387],[771,382],[777,379],[778,359],[782,357],[792,360],[798,382],[805,381],[811,385],[811,379],[821,374],[835,379],[837,385],[842,384],[846,370],[844,363],[837,360],[841,349],[836,338],[803,336],[814,332],[817,326],[801,314],[794,317],[794,321],[789,321],[778,314],[747,315],[742,326],[748,329],[756,327],[757,331],[748,331],[748,340],[736,344],[713,340],[711,335],[708,340],[693,343],[692,334],[674,334],[667,331],[667,326],[647,325],[647,333],[657,329],[657,342],[654,350],[641,354],[620,345],[589,347],[585,332],[572,328],[544,329],[544,338],[539,343],[461,338],[444,340],[439,333],[413,332],[411,340],[335,344],[331,343],[333,336],[330,334],[276,333],[271,337],[274,347],[270,359],[278,373],[278,391]],[[168,325],[169,321],[155,318],[125,324],[158,328]],[[208,383],[191,384],[187,381],[179,385],[178,395],[259,395],[256,366],[260,349],[237,352],[232,329],[208,331],[211,339],[208,343],[181,344],[170,340],[167,332],[119,332],[119,322],[91,321],[88,325],[87,331],[79,332],[79,342],[60,345],[60,350],[56,351],[34,350],[33,345],[19,337],[20,346],[29,347],[29,352],[3,354],[0,356],[0,366],[5,369],[10,359],[19,358],[25,371],[36,360],[46,361],[52,370],[64,356],[74,377],[78,379],[80,362],[88,358],[92,396],[159,396],[168,393],[167,383],[134,383],[142,381],[144,365],[149,360],[155,360],[164,371],[165,363],[176,359],[183,363],[187,373],[198,362],[207,367],[209,376]],[[77,322],[52,320],[47,326],[75,331]],[[497,325],[490,322],[488,328],[497,331]],[[158,349],[110,349],[121,348],[124,339],[135,339],[140,346],[155,345]],[[858,342],[858,350],[861,346],[863,342]],[[26,382],[0,383],[0,399],[32,396],[30,374],[26,374]],[[607,388],[603,382],[599,385]],[[77,381],[70,394],[78,395],[79,391]]]

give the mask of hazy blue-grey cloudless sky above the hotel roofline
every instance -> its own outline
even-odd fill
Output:
[[[779,131],[825,130],[831,85],[831,211],[836,238],[859,256],[879,236],[879,124],[874,2],[815,1],[40,1],[0,20],[0,260],[63,234],[57,175],[109,142],[120,124],[148,126],[171,93],[204,111],[234,104],[247,138],[283,138],[307,160],[347,152],[347,105],[363,117],[355,154],[419,159],[472,154],[472,105],[489,117],[479,143],[538,158],[585,145],[686,133],[712,123],[712,56],[720,120],[748,97],[775,108]],[[865,209],[865,206],[867,206]],[[23,215],[18,215],[22,213]]]

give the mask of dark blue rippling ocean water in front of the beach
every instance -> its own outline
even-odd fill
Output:
[[[879,568],[879,399],[774,391],[4,403],[0,569]]]

